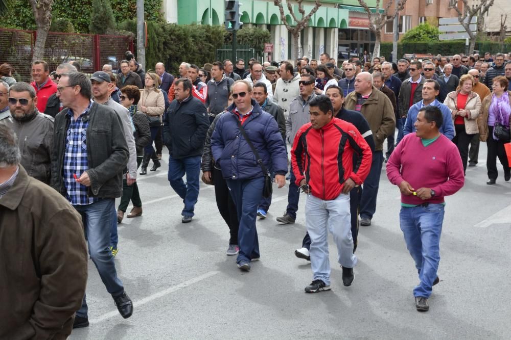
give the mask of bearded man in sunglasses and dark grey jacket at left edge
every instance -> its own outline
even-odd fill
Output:
[[[11,120],[6,122],[18,136],[21,165],[28,175],[50,185],[53,152],[53,117],[39,113],[34,88],[18,82],[9,89]]]

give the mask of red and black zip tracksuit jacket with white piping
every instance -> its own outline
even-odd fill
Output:
[[[355,167],[354,153],[359,155]],[[338,118],[319,129],[307,123],[298,130],[291,150],[295,184],[299,186],[305,178],[312,195],[333,200],[342,192],[346,179],[362,184],[372,157],[371,148],[355,125]]]

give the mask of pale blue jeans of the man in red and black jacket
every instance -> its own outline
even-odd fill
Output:
[[[337,246],[338,263],[345,268],[353,268],[357,264],[357,257],[353,254],[350,195],[340,194],[336,199],[330,201],[307,196],[305,216],[307,231],[311,237],[310,254],[313,279],[320,279],[329,285],[329,230]]]

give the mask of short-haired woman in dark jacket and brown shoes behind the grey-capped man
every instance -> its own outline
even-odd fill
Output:
[[[128,109],[131,121],[133,123],[133,137],[135,138],[136,147],[136,167],[140,167],[144,156],[144,147],[151,140],[151,130],[146,115],[137,110],[136,105],[140,100],[140,89],[134,85],[128,85],[121,90],[121,105]],[[142,200],[138,192],[136,181],[128,186],[126,178],[123,179],[123,196],[121,203],[117,208],[117,222],[121,223],[129,202],[133,203],[133,208],[128,214],[128,218],[142,215]]]

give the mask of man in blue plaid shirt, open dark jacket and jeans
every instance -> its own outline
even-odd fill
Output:
[[[83,73],[63,75],[57,89],[67,109],[55,117],[52,187],[82,216],[90,258],[123,318],[133,303],[115,270],[108,248],[115,198],[122,195],[122,173],[128,146],[120,117],[109,107],[90,100],[90,80]],[[87,327],[87,302],[76,312],[73,327]]]

